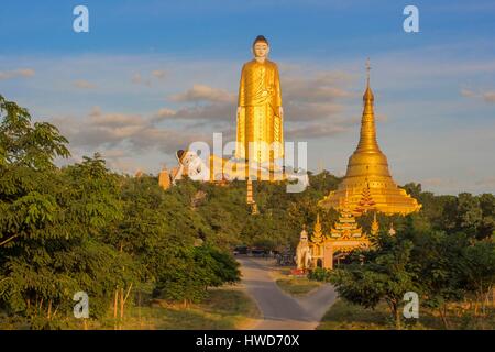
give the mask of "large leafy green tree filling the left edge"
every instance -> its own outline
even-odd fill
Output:
[[[74,320],[73,295],[84,290],[91,318],[101,317],[108,287],[121,279],[113,263],[127,260],[92,237],[118,218],[101,188],[107,175],[88,160],[58,169],[54,160],[69,153],[57,129],[33,124],[2,97],[0,111],[0,307],[32,328],[57,328]]]

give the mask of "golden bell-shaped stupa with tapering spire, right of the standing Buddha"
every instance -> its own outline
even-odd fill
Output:
[[[360,208],[363,190],[373,199],[373,208],[385,215],[407,215],[421,208],[406,190],[397,187],[388,170],[388,162],[376,142],[374,96],[370,87],[370,63],[366,65],[367,82],[364,92],[364,109],[361,120],[360,142],[349,158],[348,170],[337,190],[330,191],[319,205],[323,208],[341,210],[346,199],[351,209]],[[369,189],[367,189],[369,188]],[[346,196],[348,195],[348,196]]]

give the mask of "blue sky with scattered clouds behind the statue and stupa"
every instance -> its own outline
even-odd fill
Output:
[[[89,9],[89,33],[73,9]],[[403,9],[419,9],[405,33]],[[372,61],[378,141],[399,184],[495,191],[493,1],[10,1],[0,94],[123,172],[173,166],[188,141],[234,130],[242,64],[257,34],[278,63],[286,140],[342,174],[358,142]]]

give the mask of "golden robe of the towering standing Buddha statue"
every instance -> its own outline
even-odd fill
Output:
[[[238,114],[235,157],[257,163],[283,157],[280,80],[274,62],[265,59],[258,63],[253,59],[244,64],[238,107],[241,109]]]

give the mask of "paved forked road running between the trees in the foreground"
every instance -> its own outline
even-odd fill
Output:
[[[242,283],[256,300],[263,315],[253,329],[260,330],[312,330],[324,312],[336,301],[331,285],[324,285],[301,298],[280,290],[271,275],[274,261],[240,257]]]

